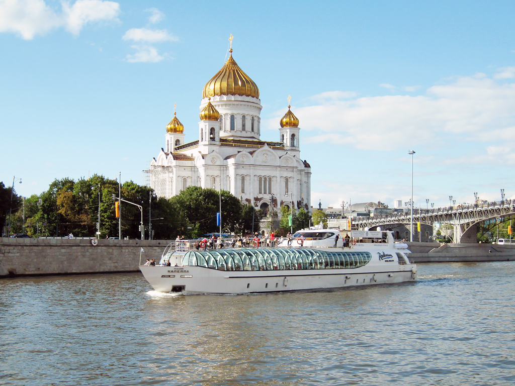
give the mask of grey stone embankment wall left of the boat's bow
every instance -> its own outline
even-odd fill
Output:
[[[167,240],[0,238],[0,277],[138,271],[159,262]]]

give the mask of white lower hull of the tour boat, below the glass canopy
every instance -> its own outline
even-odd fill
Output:
[[[373,269],[371,269],[373,268]],[[414,264],[356,269],[220,271],[199,266],[140,267],[159,292],[260,293],[393,284],[416,280]]]

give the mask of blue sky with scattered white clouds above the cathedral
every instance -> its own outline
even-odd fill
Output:
[[[514,16],[512,1],[0,0],[0,181],[25,197],[93,174],[145,184],[175,103],[198,139],[232,33],[261,139],[279,141],[291,96],[312,206],[406,202],[412,161],[415,206],[514,199]]]

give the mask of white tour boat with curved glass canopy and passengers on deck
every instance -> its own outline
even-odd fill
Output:
[[[218,294],[402,283],[417,277],[417,267],[407,257],[408,245],[394,242],[389,231],[316,232],[333,235],[321,239],[313,235],[311,240],[304,236],[302,246],[295,239],[291,247],[276,248],[184,252],[172,251],[170,244],[158,266],[140,266],[140,270],[159,292]],[[342,237],[334,247],[336,234]],[[327,239],[332,245],[326,244]]]

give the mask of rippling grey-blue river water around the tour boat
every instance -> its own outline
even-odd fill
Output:
[[[178,295],[140,274],[0,280],[2,385],[515,384],[515,262],[416,283]]]

